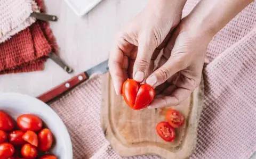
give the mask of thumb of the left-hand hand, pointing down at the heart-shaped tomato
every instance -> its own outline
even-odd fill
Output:
[[[150,41],[139,42],[137,57],[133,65],[133,79],[137,82],[142,82],[145,79],[155,48]]]

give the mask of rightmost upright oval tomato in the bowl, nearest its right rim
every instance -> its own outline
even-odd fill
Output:
[[[38,149],[45,152],[52,146],[53,137],[49,129],[43,129],[38,133],[39,145]]]

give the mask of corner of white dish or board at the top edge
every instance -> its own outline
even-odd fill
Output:
[[[65,0],[71,9],[78,15],[83,16],[102,0]]]

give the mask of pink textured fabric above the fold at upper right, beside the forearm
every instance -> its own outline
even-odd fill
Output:
[[[183,16],[190,13],[198,2],[199,0],[188,0],[183,9]],[[254,27],[256,27],[255,1],[248,5],[241,13],[221,29],[217,35],[215,35],[207,48],[205,62],[210,63],[213,61],[215,57],[243,38]]]

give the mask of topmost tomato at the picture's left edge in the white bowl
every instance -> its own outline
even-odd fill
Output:
[[[14,129],[14,121],[11,116],[3,111],[0,111],[0,130],[12,131]]]

